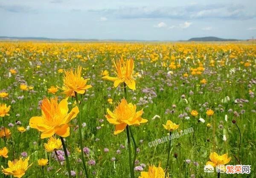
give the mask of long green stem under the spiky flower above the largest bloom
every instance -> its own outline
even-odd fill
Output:
[[[78,129],[79,129],[79,139],[80,139],[80,149],[81,149],[81,156],[82,156],[82,162],[84,165],[84,171],[85,171],[85,175],[87,178],[89,178],[88,172],[87,172],[87,167],[84,161],[84,152],[83,152],[83,138],[82,138],[82,123],[81,123],[81,109],[80,109],[80,104],[79,104],[79,100],[78,100],[78,95],[77,92],[75,92],[75,97],[76,97],[76,105],[79,108],[79,117],[78,117]]]

